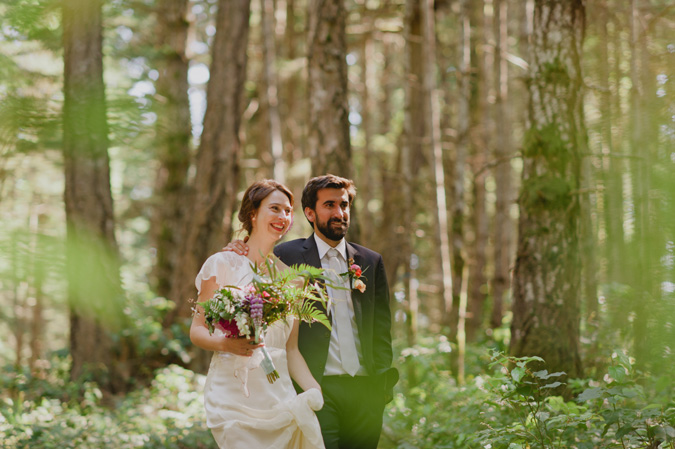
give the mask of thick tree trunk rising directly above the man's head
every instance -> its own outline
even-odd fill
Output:
[[[352,177],[344,0],[311,0],[307,34],[308,146],[314,176]]]

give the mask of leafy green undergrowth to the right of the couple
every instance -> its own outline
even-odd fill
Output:
[[[602,379],[564,385],[565,373],[532,368],[544,362],[539,357],[493,351],[490,359],[476,358],[473,369],[480,374],[458,386],[447,369],[446,345],[442,337],[426,339],[402,351],[399,366],[412,362],[421,375],[410,386],[409,371],[401,369],[381,448],[675,447],[672,381],[641,376],[621,352]],[[559,396],[563,386],[576,399]]]

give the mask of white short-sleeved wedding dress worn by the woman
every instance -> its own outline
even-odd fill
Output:
[[[209,257],[195,280],[216,277],[219,286],[244,286],[253,276],[251,261],[233,252]],[[256,350],[251,357],[215,352],[206,377],[204,405],[206,422],[220,448],[323,448],[319,421],[319,390],[298,395],[288,374],[286,340],[290,323],[276,322],[265,335],[265,347],[280,378],[270,384]]]

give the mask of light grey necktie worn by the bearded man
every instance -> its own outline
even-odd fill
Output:
[[[345,282],[340,276],[341,264],[338,259],[339,253],[335,248],[328,250],[328,264],[331,270],[335,272],[336,278],[333,282],[340,287],[344,287]],[[333,303],[335,304],[335,319],[333,325],[337,325],[338,343],[340,344],[340,359],[342,367],[351,376],[354,376],[359,370],[359,356],[356,352],[356,343],[354,342],[354,332],[352,330],[352,321],[349,318],[348,290],[333,289]]]

